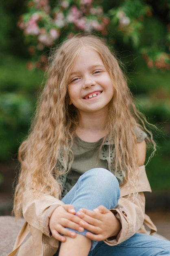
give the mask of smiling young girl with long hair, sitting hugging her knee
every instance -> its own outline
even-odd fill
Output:
[[[170,255],[170,242],[144,228],[156,231],[144,213],[146,145],[155,151],[145,122],[105,43],[66,40],[20,146],[14,213],[26,222],[10,255]]]

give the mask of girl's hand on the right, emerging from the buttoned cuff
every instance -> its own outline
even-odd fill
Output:
[[[89,231],[86,233],[87,238],[92,240],[102,241],[120,232],[120,221],[102,205],[93,211],[82,208],[76,215],[82,219],[79,225]]]

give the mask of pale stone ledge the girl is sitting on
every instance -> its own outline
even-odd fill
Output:
[[[15,222],[15,217],[0,216],[0,256],[7,256],[15,243],[18,232],[20,231],[24,219],[20,218]],[[158,238],[168,240],[159,234],[155,234]],[[17,254],[16,254],[17,255]]]

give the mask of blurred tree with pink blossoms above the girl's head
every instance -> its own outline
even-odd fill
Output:
[[[140,52],[149,68],[170,69],[170,0],[27,0],[18,26],[35,67],[46,67],[48,47],[77,32],[95,33],[121,50]],[[38,56],[43,53],[41,58]],[[28,66],[33,68],[33,64]]]

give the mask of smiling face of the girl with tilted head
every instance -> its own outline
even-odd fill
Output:
[[[70,74],[69,104],[73,104],[80,114],[106,110],[113,92],[111,78],[100,55],[92,49],[83,48]]]

